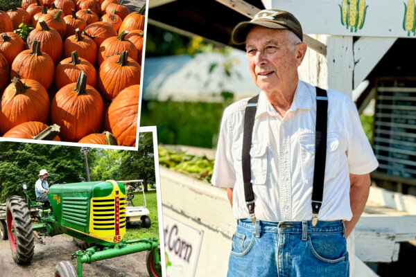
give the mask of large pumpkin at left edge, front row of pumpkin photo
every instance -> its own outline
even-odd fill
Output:
[[[1,98],[0,131],[4,134],[27,121],[45,123],[48,115],[49,96],[42,84],[35,80],[13,78]]]

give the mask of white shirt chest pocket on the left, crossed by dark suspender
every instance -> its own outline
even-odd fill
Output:
[[[234,168],[238,172],[242,172],[241,154],[243,152],[243,145],[238,145],[232,149],[234,158]],[[268,170],[268,145],[258,144],[252,145],[250,149],[250,164],[251,164],[251,182],[254,185],[262,185],[266,183]]]

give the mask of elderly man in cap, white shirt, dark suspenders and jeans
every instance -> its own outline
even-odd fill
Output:
[[[348,276],[345,238],[377,168],[354,102],[299,80],[306,53],[289,12],[234,28],[259,96],[223,114],[212,183],[238,220],[228,276]]]

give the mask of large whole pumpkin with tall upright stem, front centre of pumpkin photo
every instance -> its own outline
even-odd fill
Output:
[[[81,71],[78,82],[62,87],[51,102],[51,120],[60,125],[64,141],[79,141],[87,134],[97,132],[103,119],[103,99],[87,84],[87,75]]]

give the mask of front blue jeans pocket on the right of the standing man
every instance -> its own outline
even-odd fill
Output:
[[[343,233],[311,233],[308,240],[311,252],[318,260],[329,263],[347,260],[347,241]]]

